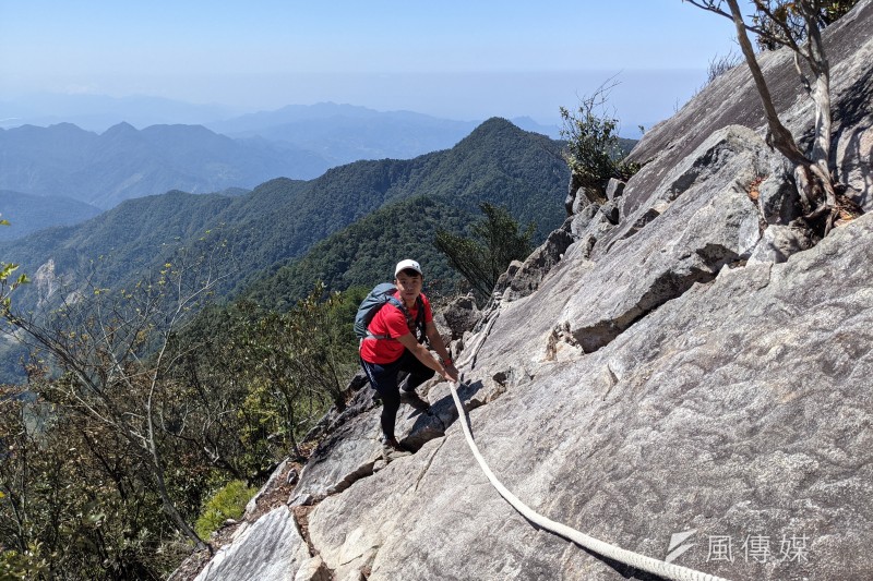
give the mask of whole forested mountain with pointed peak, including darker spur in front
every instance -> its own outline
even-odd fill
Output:
[[[559,152],[558,142],[492,119],[454,148],[410,160],[358,161],[311,181],[272,180],[243,195],[169,192],[128,201],[79,226],[0,242],[0,256],[35,279],[16,292],[24,308],[39,293],[72,292],[88,274],[103,288],[132,288],[146,273],[178,262],[182,249],[190,255],[217,245],[228,258],[216,298],[252,287],[259,300],[288,305],[316,279],[347,288],[384,278],[398,252],[430,263],[431,283],[454,282],[430,247],[435,228],[461,232],[489,202],[519,222],[535,222],[541,239],[564,218],[569,170]],[[405,204],[412,198],[424,199]],[[277,278],[259,283],[268,268]],[[4,361],[7,374],[17,367],[16,356]]]

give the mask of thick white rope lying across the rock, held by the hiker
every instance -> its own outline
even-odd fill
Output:
[[[654,559],[651,557],[646,557],[645,555],[634,553],[633,550],[610,545],[609,543],[605,543],[603,541],[599,541],[593,536],[581,533],[579,531],[572,529],[566,524],[561,524],[560,522],[555,522],[547,517],[543,517],[529,506],[522,503],[517,496],[512,494],[505,486],[503,486],[503,484],[501,484],[497,476],[494,476],[494,473],[491,472],[491,469],[488,468],[485,458],[482,458],[482,455],[479,453],[479,448],[476,446],[476,443],[473,439],[473,434],[467,425],[464,406],[462,406],[461,398],[457,396],[455,384],[450,382],[449,387],[452,390],[452,397],[455,400],[455,407],[457,407],[457,413],[459,414],[461,419],[461,426],[464,428],[464,435],[467,437],[467,444],[469,444],[470,450],[473,450],[473,456],[476,457],[476,461],[479,462],[482,472],[485,472],[485,475],[488,476],[488,480],[491,481],[491,484],[498,489],[500,495],[505,498],[513,506],[513,508],[521,512],[522,516],[524,516],[527,520],[537,524],[538,526],[541,526],[542,529],[546,529],[547,531],[551,531],[560,536],[563,536],[564,538],[573,541],[577,545],[593,550],[598,555],[602,555],[609,559],[630,565],[631,567],[639,569],[641,571],[647,571],[675,581],[727,581],[721,577],[704,573],[702,571],[695,571],[694,569],[689,569],[687,567]]]

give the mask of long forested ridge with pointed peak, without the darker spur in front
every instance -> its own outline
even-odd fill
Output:
[[[79,226],[0,243],[0,255],[31,274],[51,259],[56,276],[79,278],[104,257],[100,280],[113,287],[163,264],[167,245],[222,239],[236,259],[220,289],[226,294],[380,207],[415,196],[439,197],[473,214],[481,202],[505,206],[519,221],[536,222],[541,238],[564,217],[569,170],[558,152],[557,142],[492,119],[445,152],[358,161],[308,182],[272,180],[241,196],[170,192],[133,199]],[[395,219],[418,232],[414,213]]]

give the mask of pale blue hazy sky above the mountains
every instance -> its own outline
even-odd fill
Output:
[[[635,128],[738,52],[731,33],[681,0],[0,0],[0,94],[247,111],[332,100],[557,124],[559,106],[615,76],[615,114]]]

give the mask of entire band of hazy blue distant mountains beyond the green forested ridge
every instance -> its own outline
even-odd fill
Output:
[[[127,121],[101,133],[70,122],[0,129],[0,189],[109,209],[170,190],[251,189],[277,177],[314,179],[356,160],[411,159],[452,148],[480,124],[335,104],[284,110],[279,118],[295,111],[297,121],[261,128],[276,114],[255,113],[265,116],[254,122],[260,129],[236,136],[178,123],[139,130]],[[240,119],[240,128],[251,123]]]

